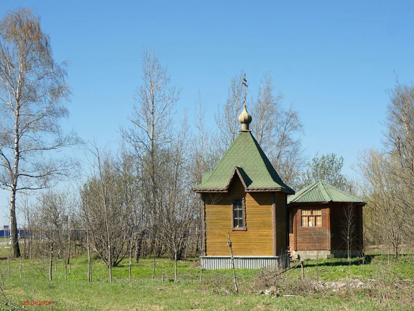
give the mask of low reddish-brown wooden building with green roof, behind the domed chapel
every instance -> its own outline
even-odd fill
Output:
[[[361,256],[363,200],[317,181],[287,199],[295,258]]]

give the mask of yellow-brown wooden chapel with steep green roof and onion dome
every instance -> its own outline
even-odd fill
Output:
[[[193,191],[202,200],[202,268],[230,268],[230,235],[237,268],[276,266],[288,247],[287,186],[249,130],[246,106],[241,131]]]

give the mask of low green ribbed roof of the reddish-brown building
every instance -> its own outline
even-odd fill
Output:
[[[303,188],[295,195],[287,197],[287,203],[311,203],[311,202],[356,202],[364,203],[351,194],[332,187],[322,181],[317,181]]]

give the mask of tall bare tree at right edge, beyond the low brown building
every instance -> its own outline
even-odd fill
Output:
[[[373,242],[390,243],[396,258],[414,234],[414,86],[396,79],[387,93],[384,149],[365,150],[359,169],[368,197],[365,232]]]

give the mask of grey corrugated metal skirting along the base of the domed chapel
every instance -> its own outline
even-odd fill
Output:
[[[237,269],[260,269],[279,267],[280,257],[273,256],[234,256],[234,267]],[[230,256],[201,257],[203,270],[231,269]]]

